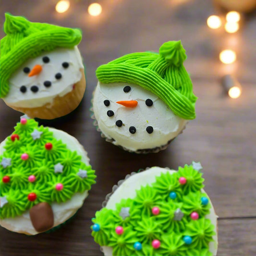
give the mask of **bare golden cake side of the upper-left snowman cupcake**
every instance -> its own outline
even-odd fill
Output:
[[[44,106],[37,108],[19,108],[7,105],[14,110],[25,113],[30,118],[54,119],[67,115],[77,108],[84,97],[86,87],[85,73],[84,70],[80,71],[82,73],[82,78],[75,84],[74,89],[63,97],[55,97],[51,103],[47,103]]]

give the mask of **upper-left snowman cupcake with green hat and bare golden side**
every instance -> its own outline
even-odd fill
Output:
[[[29,117],[54,119],[73,111],[85,93],[79,29],[32,23],[5,14],[0,41],[0,97]]]

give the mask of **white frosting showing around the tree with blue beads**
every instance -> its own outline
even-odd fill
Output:
[[[160,176],[161,173],[166,172],[174,173],[174,170],[168,170],[160,167],[152,167],[147,171],[142,171],[136,173],[126,179],[122,185],[120,185],[117,190],[110,196],[109,201],[106,205],[106,208],[116,210],[116,204],[119,203],[122,199],[134,198],[136,196],[136,190],[140,189],[141,186],[146,184],[151,184],[156,182],[156,176]],[[201,189],[202,193],[206,193],[204,189]],[[213,236],[214,242],[209,243],[209,251],[213,256],[217,255],[218,250],[218,235],[217,235],[217,218],[213,205],[209,201],[211,208],[210,213],[206,215],[206,219],[210,219],[212,224],[215,227],[216,235]],[[105,256],[112,256],[112,247],[102,246],[102,250]]]

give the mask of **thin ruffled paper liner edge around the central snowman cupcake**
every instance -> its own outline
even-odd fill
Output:
[[[93,119],[93,125],[96,127],[97,131],[100,132],[100,136],[102,138],[104,138],[107,142],[110,142],[113,144],[113,142],[115,141],[113,138],[109,138],[107,137],[98,127],[98,121],[94,115],[94,110],[93,110],[93,99],[94,99],[94,93],[95,93],[95,90],[93,91],[93,97],[91,99],[91,108],[90,108],[90,111],[91,111],[91,119]],[[187,122],[188,123],[188,122]],[[179,134],[182,134],[183,131],[185,130],[186,128],[186,125],[187,123],[184,125],[183,129],[181,130],[181,132]],[[153,147],[153,148],[146,148],[146,149],[137,149],[137,150],[131,150],[131,149],[128,149],[124,146],[121,146],[121,145],[115,145],[115,146],[118,146],[120,147],[121,149],[125,150],[125,151],[128,151],[128,152],[131,152],[131,153],[136,153],[136,154],[147,154],[147,153],[158,153],[159,151],[161,150],[164,150],[167,148],[167,146],[169,146],[169,144],[179,135],[177,134],[174,138],[172,138],[171,140],[169,140],[165,145],[162,145],[162,146],[156,146],[156,147]]]

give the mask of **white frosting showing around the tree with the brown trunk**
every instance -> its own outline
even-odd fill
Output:
[[[67,148],[76,151],[78,155],[82,156],[81,161],[83,161],[86,165],[89,165],[89,158],[87,157],[87,153],[84,147],[78,142],[76,138],[73,136],[54,128],[49,128],[50,132],[53,132],[53,136],[62,140],[67,145]],[[4,140],[0,144],[0,154],[2,154],[5,149],[3,148],[5,145]],[[65,222],[67,219],[70,219],[76,211],[82,207],[85,198],[88,195],[88,191],[83,193],[76,193],[72,196],[72,198],[64,203],[52,203],[51,207],[54,213],[54,227],[60,225]],[[17,216],[15,218],[7,218],[1,219],[0,225],[10,231],[25,233],[28,235],[36,235],[38,232],[34,229],[30,217],[29,210],[24,212],[23,215]]]

